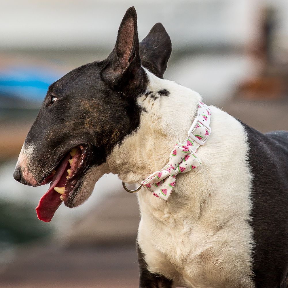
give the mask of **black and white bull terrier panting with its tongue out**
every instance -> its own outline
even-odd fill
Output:
[[[39,219],[82,204],[105,173],[140,184],[167,164],[202,101],[163,79],[171,49],[160,23],[139,43],[130,7],[107,59],[49,87],[14,171],[26,185],[51,182]],[[139,287],[287,287],[288,133],[209,111],[202,164],[177,175],[167,201],[137,192]]]

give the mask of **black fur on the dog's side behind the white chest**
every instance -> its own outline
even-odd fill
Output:
[[[245,126],[250,145],[253,271],[257,287],[287,288],[288,132],[262,134]]]

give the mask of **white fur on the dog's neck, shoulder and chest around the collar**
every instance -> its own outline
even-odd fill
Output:
[[[140,183],[168,163],[176,141],[183,141],[197,111],[199,94],[147,71],[148,91],[166,89],[156,100],[142,96],[140,126],[107,159],[112,173]],[[197,154],[202,164],[177,176],[167,202],[142,188],[138,243],[151,272],[174,286],[254,287],[251,280],[251,175],[245,160],[244,128],[210,106],[212,133]]]

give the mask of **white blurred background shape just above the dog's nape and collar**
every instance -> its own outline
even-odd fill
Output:
[[[165,77],[198,92],[206,103],[219,105],[260,68],[260,63],[246,54],[186,55],[167,70]]]

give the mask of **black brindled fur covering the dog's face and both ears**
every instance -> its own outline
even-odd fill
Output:
[[[148,69],[155,65],[158,69],[152,69],[155,73],[164,73],[171,53],[155,58],[155,53],[167,46],[168,34],[161,24],[156,24],[151,31],[139,44],[137,14],[135,8],[130,7],[107,59],[83,65],[49,87],[25,140],[26,147],[35,146],[32,162],[26,168],[38,185],[71,148],[89,145],[92,151],[88,166],[100,165],[117,143],[137,129],[145,109],[136,105],[136,101],[148,83],[141,67],[140,49],[143,65]],[[156,43],[159,48],[154,53],[145,50]],[[52,97],[57,97],[53,105]],[[22,177],[20,166],[16,167],[14,178],[31,185]]]

